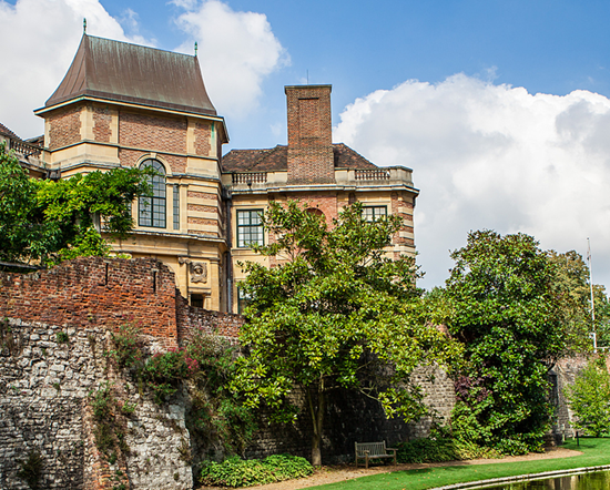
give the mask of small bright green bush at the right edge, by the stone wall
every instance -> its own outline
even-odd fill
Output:
[[[594,437],[610,432],[610,375],[603,356],[587,365],[573,386],[566,388],[566,397],[578,417],[572,422],[576,429]]]

